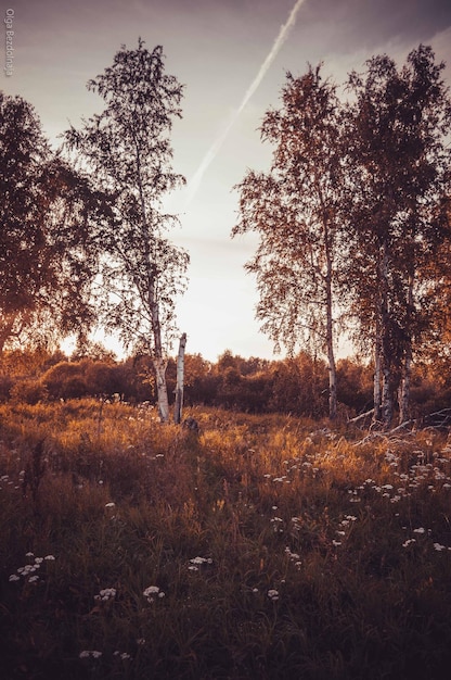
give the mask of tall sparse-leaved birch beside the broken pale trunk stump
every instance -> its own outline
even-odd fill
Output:
[[[102,113],[66,133],[68,148],[111,194],[113,217],[103,234],[100,313],[126,347],[152,356],[160,419],[168,420],[166,356],[176,332],[175,299],[185,286],[188,254],[167,237],[177,217],[163,197],[184,184],[173,172],[169,135],[181,117],[182,86],[165,73],[163,48],[117,52],[88,83]]]

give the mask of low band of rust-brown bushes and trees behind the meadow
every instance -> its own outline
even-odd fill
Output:
[[[29,404],[98,396],[131,403],[156,403],[149,356],[116,361],[108,352],[68,358],[62,352],[10,352],[0,367],[0,401]],[[373,370],[357,358],[337,364],[339,415],[349,418],[373,406]],[[176,387],[176,362],[168,360],[169,394]],[[201,354],[185,356],[184,403],[247,413],[292,413],[312,418],[328,413],[327,365],[300,353],[293,358],[243,358],[226,351],[216,363]],[[431,363],[416,365],[412,380],[412,417],[451,404],[451,370]]]

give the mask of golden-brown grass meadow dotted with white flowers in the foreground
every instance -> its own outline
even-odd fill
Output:
[[[191,415],[0,406],[1,677],[451,677],[451,438]]]

